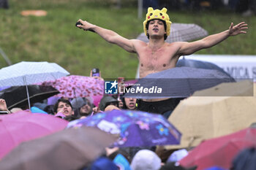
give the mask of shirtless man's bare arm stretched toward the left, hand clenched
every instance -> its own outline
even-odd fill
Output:
[[[116,32],[101,28],[99,26],[95,26],[94,24],[91,24],[87,22],[86,20],[78,20],[83,25],[77,25],[78,28],[83,28],[85,31],[94,31],[95,33],[99,34],[99,36],[102,36],[103,39],[105,39],[107,42],[116,44],[124,50],[127,50],[130,53],[136,53],[135,47],[132,43],[133,40],[126,39],[123,36],[118,35]]]

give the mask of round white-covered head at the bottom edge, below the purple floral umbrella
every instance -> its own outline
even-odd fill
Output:
[[[151,150],[140,150],[132,158],[132,170],[159,170],[161,159]]]

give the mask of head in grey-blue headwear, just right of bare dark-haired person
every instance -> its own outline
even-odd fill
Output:
[[[71,104],[72,107],[74,107],[75,112],[78,112],[80,116],[91,115],[93,105],[88,98],[73,98]]]

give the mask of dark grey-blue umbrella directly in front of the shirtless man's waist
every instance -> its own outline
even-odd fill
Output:
[[[138,80],[124,97],[184,98],[191,96],[196,90],[211,88],[222,82],[234,81],[232,77],[218,70],[176,67],[148,74]]]

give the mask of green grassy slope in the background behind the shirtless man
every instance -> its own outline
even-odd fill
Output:
[[[128,39],[143,32],[143,19],[138,19],[137,1],[122,0],[9,0],[10,9],[0,9],[0,47],[12,63],[48,61],[59,63],[71,74],[89,76],[99,68],[102,77],[134,78],[138,66],[135,54],[105,42],[97,34],[75,28],[81,18],[97,26],[116,31]],[[24,17],[20,12],[43,9],[44,17]],[[145,12],[144,12],[145,14]],[[209,34],[224,31],[230,23],[246,21],[248,34],[230,37],[225,42],[201,50],[198,54],[255,55],[255,16],[242,18],[239,14],[223,12],[168,11],[173,23],[196,23]],[[7,63],[0,56],[0,68]]]

